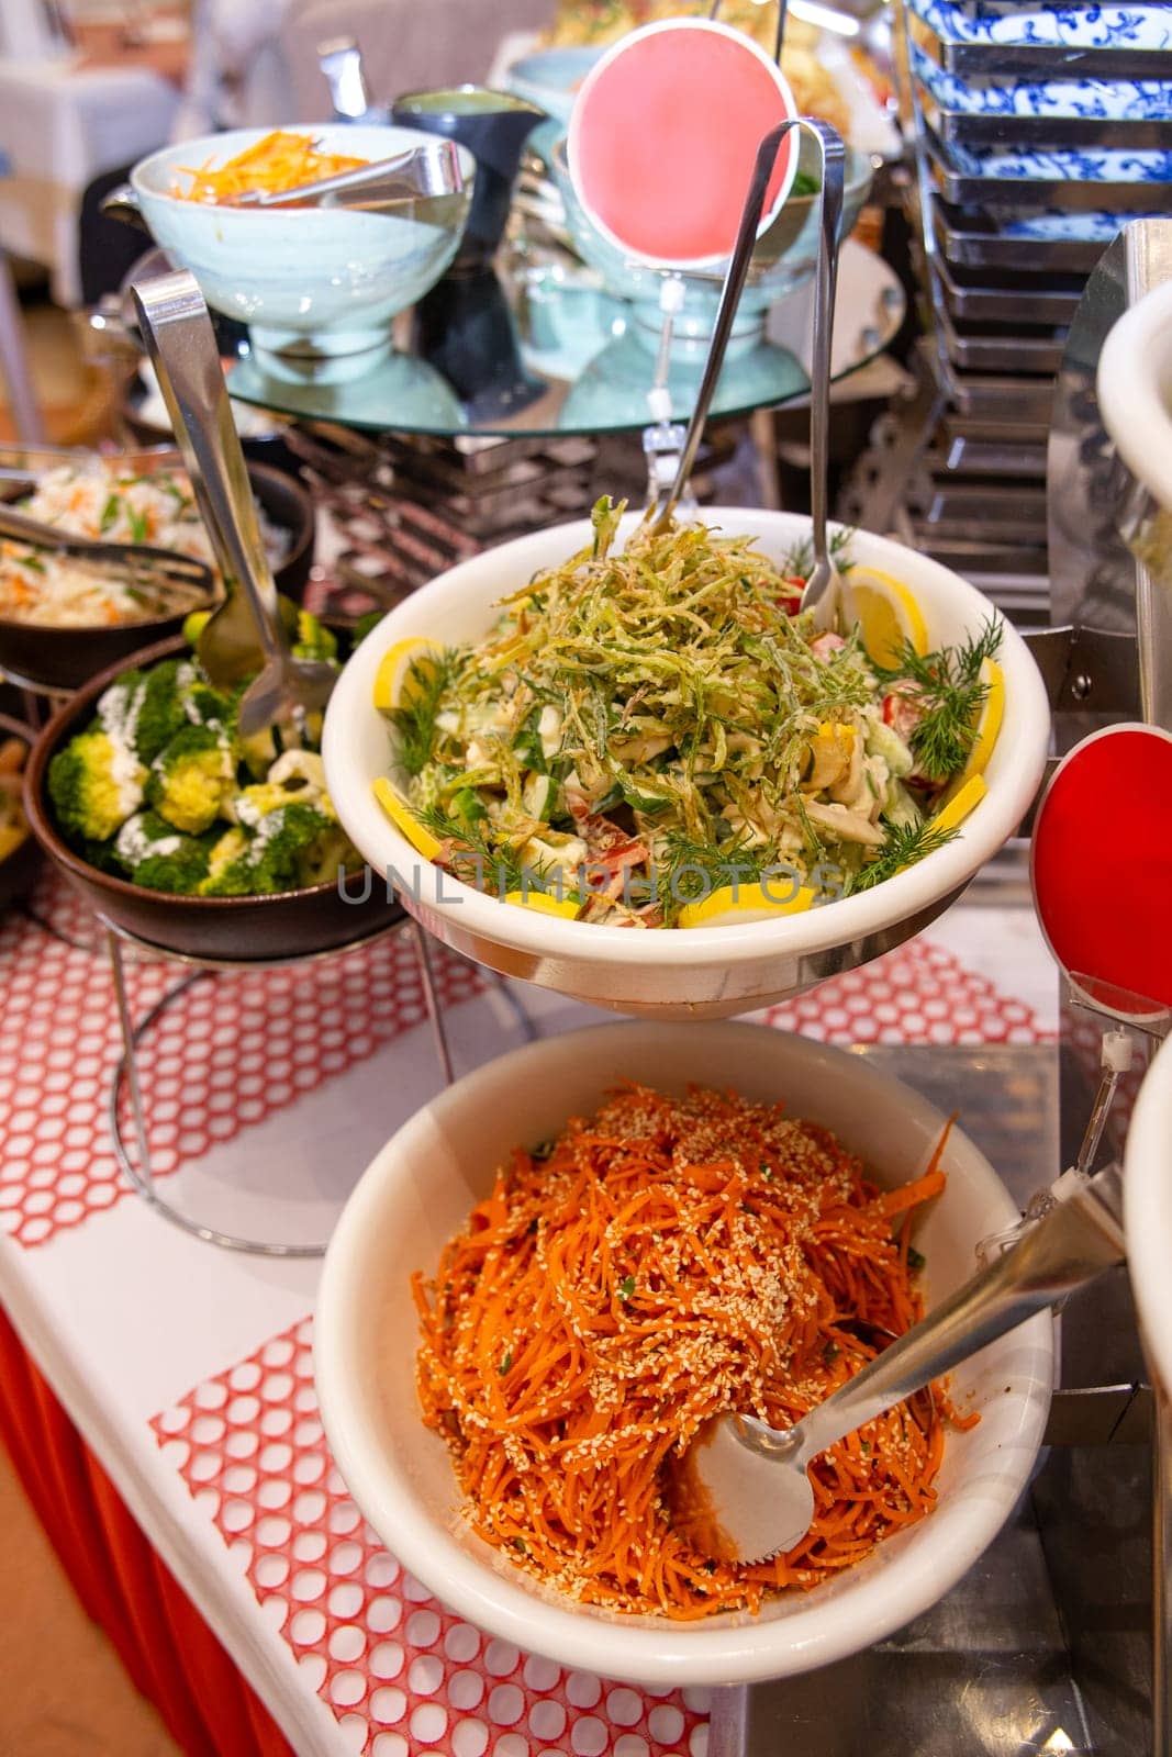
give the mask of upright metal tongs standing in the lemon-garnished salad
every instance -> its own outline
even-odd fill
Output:
[[[829,553],[826,532],[828,474],[829,474],[829,348],[835,329],[835,292],[838,286],[838,241],[842,235],[842,188],[847,151],[829,123],[812,116],[798,116],[778,123],[757,148],[752,183],[742,209],[736,244],[720,288],[720,304],[699,383],[692,418],[687,423],[675,481],[648,504],[643,522],[652,531],[666,531],[671,515],[687,488],[696,452],[708,418],[708,408],[724,365],[724,351],[733,332],[733,318],[740,302],[749,264],[757,242],[757,227],[764,211],[764,197],[773,176],[773,162],[791,128],[805,128],[814,137],[822,160],[822,195],[819,221],[819,258],[814,283],[814,346],[810,357],[810,511],[814,517],[814,573],[801,594],[801,608],[814,611],[819,629],[829,629],[838,617],[840,575]]]

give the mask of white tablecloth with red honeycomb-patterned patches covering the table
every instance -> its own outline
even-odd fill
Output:
[[[88,917],[46,900],[69,931]],[[181,972],[141,966],[142,1012]],[[100,951],[0,931],[0,1300],[165,1564],[299,1757],[705,1757],[703,1692],[564,1673],[490,1641],[404,1574],[348,1500],[316,1420],[315,1262],[202,1244],[125,1191]],[[520,1042],[515,1007],[441,958],[457,1072]],[[597,1014],[513,986],[543,1033]],[[956,907],[770,1023],[840,1044],[1038,1042],[1056,977],[1026,908]],[[18,1074],[19,1068],[19,1074]],[[439,1086],[404,936],[216,977],[148,1047],[170,1200],[257,1235],[325,1237],[374,1151]]]

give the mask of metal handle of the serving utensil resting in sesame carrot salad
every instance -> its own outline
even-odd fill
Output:
[[[742,1423],[752,1450],[805,1465],[988,1342],[1125,1262],[1123,1177],[1109,1165],[787,1432]],[[745,1428],[749,1434],[745,1435]]]

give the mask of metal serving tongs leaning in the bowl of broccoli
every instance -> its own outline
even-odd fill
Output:
[[[132,293],[225,582],[227,597],[197,643],[200,664],[227,689],[260,668],[241,698],[244,738],[299,724],[325,706],[337,671],[290,652],[204,295],[186,269]]]

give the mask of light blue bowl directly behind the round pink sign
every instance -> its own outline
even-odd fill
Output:
[[[817,148],[803,137],[798,156],[799,174],[817,176]],[[657,348],[662,332],[659,295],[664,279],[671,278],[675,271],[634,262],[594,227],[575,193],[564,137],[553,148],[552,169],[566,207],[566,230],[573,248],[585,264],[597,271],[608,293],[631,302],[634,332],[643,336],[647,346]],[[870,160],[854,148],[847,148],[843,237],[854,228],[870,188]],[[791,195],[768,232],[757,239],[745,290],[736,307],[729,358],[734,358],[738,351],[759,346],[770,306],[814,276],[819,248],[819,209],[821,195]],[[684,306],[675,320],[676,346],[685,348],[712,336],[724,269],[726,264],[719,264],[705,274],[689,271],[678,276],[684,283]]]

